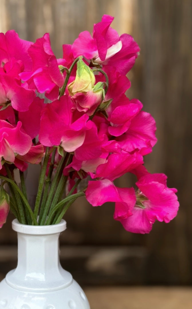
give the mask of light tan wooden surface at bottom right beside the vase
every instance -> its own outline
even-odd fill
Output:
[[[114,287],[84,289],[91,309],[191,309],[192,288]]]

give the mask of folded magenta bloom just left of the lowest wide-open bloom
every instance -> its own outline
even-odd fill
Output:
[[[92,206],[115,202],[114,218],[116,220],[131,216],[136,202],[134,188],[118,188],[108,179],[89,181],[85,195]]]

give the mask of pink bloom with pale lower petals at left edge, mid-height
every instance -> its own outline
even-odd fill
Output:
[[[0,169],[2,160],[14,163],[15,155],[25,155],[31,148],[32,140],[21,131],[21,126],[20,121],[14,128],[8,122],[0,120]]]

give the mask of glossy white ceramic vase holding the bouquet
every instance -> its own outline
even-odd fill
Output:
[[[0,283],[0,309],[90,309],[71,274],[59,262],[59,235],[66,222],[31,226],[13,220],[18,265]]]

